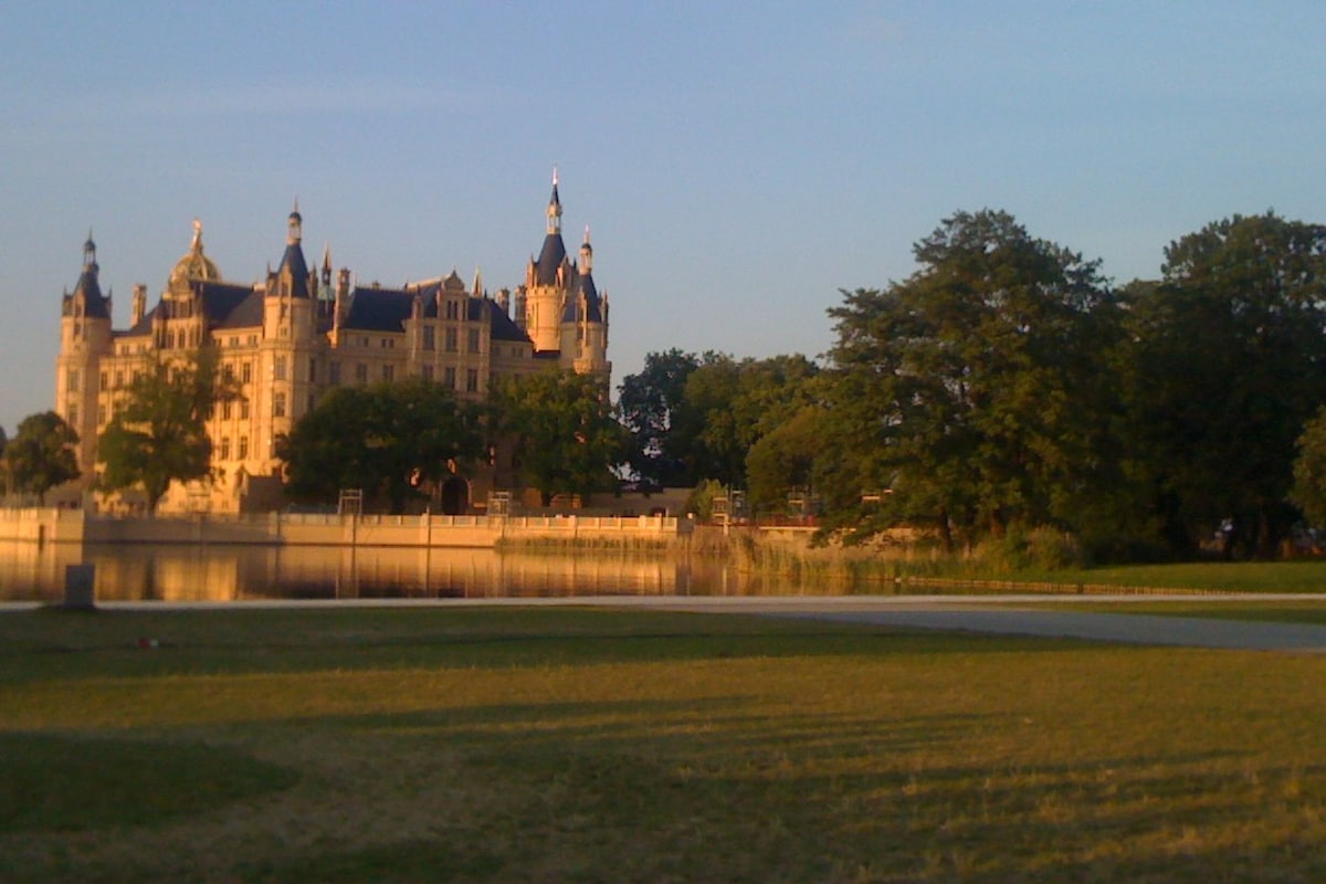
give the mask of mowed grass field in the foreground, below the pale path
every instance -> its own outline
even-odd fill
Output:
[[[0,880],[1326,880],[1323,722],[1321,656],[577,608],[9,612]]]

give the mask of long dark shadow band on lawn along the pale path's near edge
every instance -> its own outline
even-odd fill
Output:
[[[261,615],[268,616],[261,616]],[[308,619],[294,616],[304,615]],[[324,616],[332,614],[333,616]],[[619,611],[13,614],[0,681],[88,675],[509,668],[794,656],[1053,653],[1071,639],[944,634],[740,615]],[[1103,647],[1103,645],[1097,645]]]

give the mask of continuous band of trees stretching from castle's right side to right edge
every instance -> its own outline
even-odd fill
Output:
[[[1322,225],[1221,220],[1123,286],[998,211],[914,254],[908,278],[842,293],[819,370],[651,354],[619,400],[633,467],[757,506],[810,488],[847,539],[1048,527],[1097,561],[1274,555],[1326,521]]]

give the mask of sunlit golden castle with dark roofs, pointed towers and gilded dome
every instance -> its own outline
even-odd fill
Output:
[[[131,496],[93,493],[97,436],[138,374],[204,345],[216,349],[239,395],[207,421],[211,481],[176,482],[162,512],[278,505],[276,440],[337,386],[422,378],[477,402],[499,378],[562,368],[599,375],[606,388],[607,293],[594,284],[589,231],[572,260],[561,221],[554,172],[542,248],[530,257],[525,282],[514,294],[503,289],[489,296],[477,273],[468,288],[455,272],[399,289],[353,285],[349,269],[333,278],[326,250],[321,266],[310,269],[297,205],[276,270],[257,284],[227,282],[204,253],[195,220],[190,249],[170,272],[160,300],[149,310],[147,286],[135,285],[129,327],[119,330],[111,327],[111,296],[101,292],[89,233],[82,274],[62,298],[56,360],[56,412],[80,437],[82,478],[70,490],[84,506],[133,502]],[[489,490],[509,488],[513,465],[495,460],[463,477],[460,509],[481,506]]]

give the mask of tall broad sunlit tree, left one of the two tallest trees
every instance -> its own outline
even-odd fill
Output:
[[[914,253],[910,278],[829,311],[815,473],[833,521],[853,537],[930,521],[949,546],[955,527],[1074,527],[1110,412],[1116,322],[1098,264],[997,211],[944,220]]]

